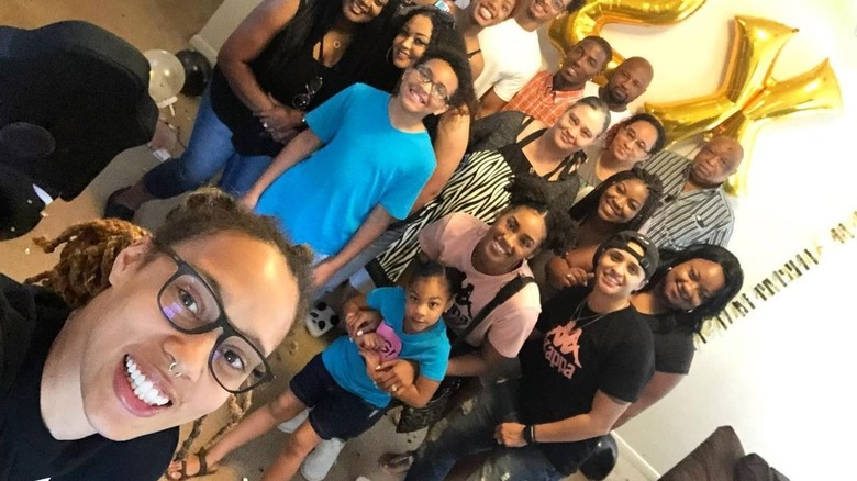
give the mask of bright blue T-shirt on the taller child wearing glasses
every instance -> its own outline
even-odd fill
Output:
[[[404,219],[435,167],[425,132],[390,124],[390,94],[363,83],[307,114],[324,146],[286,170],[256,211],[282,221],[291,239],[334,255],[380,204]]]

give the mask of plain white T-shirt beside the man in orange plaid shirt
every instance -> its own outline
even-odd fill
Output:
[[[474,81],[477,97],[493,87],[508,102],[542,69],[538,31],[527,32],[514,19],[482,29],[479,48],[485,66]]]

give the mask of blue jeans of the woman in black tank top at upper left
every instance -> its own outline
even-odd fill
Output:
[[[171,158],[146,172],[143,183],[157,199],[168,199],[209,182],[223,170],[218,187],[240,197],[253,187],[271,163],[267,155],[245,156],[235,152],[232,131],[211,108],[205,90],[200,100],[188,148],[179,158]]]

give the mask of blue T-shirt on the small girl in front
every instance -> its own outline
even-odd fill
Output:
[[[446,325],[443,318],[427,331],[407,334],[402,327],[404,289],[375,289],[369,292],[366,303],[369,307],[379,311],[383,322],[399,335],[402,340],[399,358],[416,361],[420,366],[420,374],[427,379],[433,381],[444,379],[446,363],[449,360],[449,339],[446,337]],[[366,362],[360,357],[357,345],[347,336],[337,338],[324,349],[322,361],[327,372],[344,390],[378,407],[386,407],[390,403],[390,394],[378,389],[366,374]]]

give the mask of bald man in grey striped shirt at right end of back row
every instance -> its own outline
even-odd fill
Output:
[[[723,190],[744,158],[744,148],[730,137],[714,137],[700,147],[693,160],[660,152],[646,170],[664,182],[664,202],[641,228],[660,248],[681,250],[691,244],[725,247],[735,216]]]

